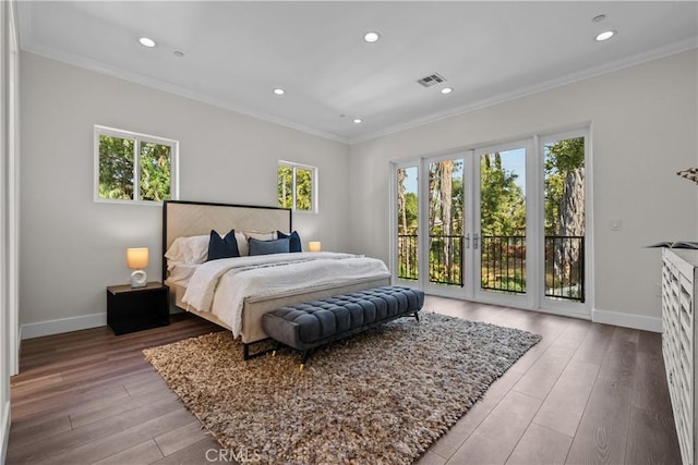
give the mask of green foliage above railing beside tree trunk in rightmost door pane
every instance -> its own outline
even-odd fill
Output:
[[[585,138],[558,140],[545,146],[545,234],[559,234],[559,205],[568,172],[585,166]]]

